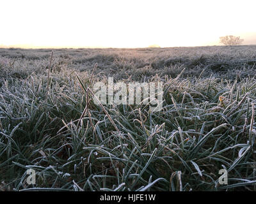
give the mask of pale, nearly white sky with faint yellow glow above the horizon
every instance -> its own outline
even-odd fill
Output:
[[[204,46],[230,34],[256,43],[255,8],[255,0],[0,0],[0,46]]]

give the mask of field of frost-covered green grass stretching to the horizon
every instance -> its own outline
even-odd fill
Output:
[[[255,69],[256,46],[2,48],[0,191],[255,191]],[[163,110],[94,105],[108,77],[163,82]]]

